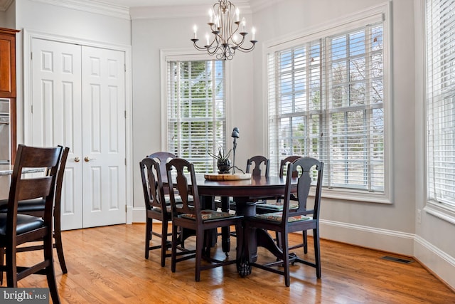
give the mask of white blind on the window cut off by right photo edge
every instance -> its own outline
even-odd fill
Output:
[[[427,1],[429,201],[455,210],[455,1]]]

